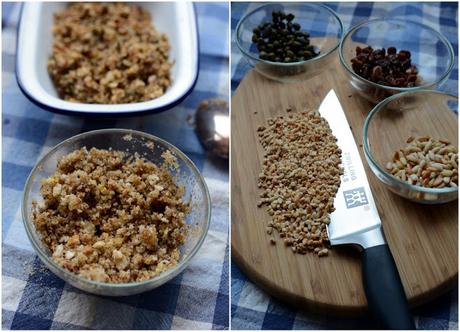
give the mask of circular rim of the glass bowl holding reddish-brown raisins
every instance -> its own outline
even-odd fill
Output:
[[[385,22],[385,23],[397,22],[397,23],[401,23],[401,24],[415,24],[415,25],[419,26],[420,28],[427,29],[427,30],[430,30],[431,32],[433,32],[435,35],[437,35],[439,37],[439,39],[444,43],[444,45],[446,45],[446,47],[448,49],[448,52],[449,52],[449,55],[450,55],[449,56],[450,63],[449,63],[448,68],[446,69],[446,71],[436,81],[433,81],[433,82],[430,82],[430,83],[427,83],[427,84],[424,84],[424,85],[420,85],[420,86],[414,86],[414,87],[411,87],[411,88],[409,88],[409,87],[405,87],[405,88],[392,87],[392,86],[388,86],[388,85],[378,84],[378,83],[369,81],[369,80],[359,76],[358,74],[356,74],[352,70],[352,68],[350,68],[349,64],[345,61],[345,57],[343,55],[343,48],[344,48],[344,45],[345,45],[345,40],[347,39],[348,36],[350,36],[352,33],[354,33],[357,29],[361,28],[362,26],[377,23],[377,22]],[[356,24],[352,28],[350,28],[350,30],[348,30],[343,35],[343,38],[340,41],[339,59],[340,59],[340,63],[342,64],[342,66],[354,78],[356,78],[356,79],[358,79],[358,80],[360,80],[362,82],[368,83],[368,84],[370,84],[370,85],[372,85],[373,87],[376,87],[376,88],[385,89],[385,90],[394,90],[394,91],[400,91],[400,92],[408,92],[408,91],[410,92],[410,91],[427,89],[429,87],[432,87],[432,86],[435,86],[435,85],[438,85],[438,84],[444,82],[449,77],[450,73],[452,72],[452,69],[454,68],[454,63],[455,63],[455,55],[454,55],[454,49],[452,48],[452,44],[439,31],[429,27],[428,25],[418,23],[418,22],[415,22],[415,21],[403,20],[403,19],[398,19],[398,18],[385,18],[385,17],[376,18],[376,19],[372,19],[372,20],[365,20],[365,21],[362,21],[362,22]]]

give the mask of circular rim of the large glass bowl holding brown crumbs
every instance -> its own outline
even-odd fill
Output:
[[[159,142],[161,144],[164,144],[167,149],[170,149],[173,151],[179,158],[185,161],[185,163],[190,167],[192,172],[197,176],[198,181],[201,183],[204,193],[205,193],[205,204],[207,206],[206,209],[206,214],[205,214],[205,226],[203,229],[203,233],[201,237],[199,238],[198,242],[196,245],[193,247],[192,251],[183,257],[183,260],[177,264],[176,266],[160,273],[159,275],[148,279],[144,281],[137,281],[137,282],[130,282],[130,283],[108,283],[108,282],[99,282],[99,281],[94,281],[90,280],[87,278],[83,278],[73,272],[70,272],[64,268],[62,268],[59,264],[57,264],[53,259],[51,259],[51,256],[49,256],[38,244],[39,239],[36,238],[36,236],[33,234],[33,230],[31,229],[32,223],[27,222],[27,209],[29,208],[26,206],[26,202],[29,198],[29,193],[30,193],[30,188],[32,185],[32,176],[35,175],[35,173],[39,170],[39,167],[42,165],[44,160],[48,158],[52,153],[56,152],[59,150],[63,145],[67,145],[69,143],[73,143],[81,139],[82,137],[87,137],[90,135],[99,135],[99,134],[107,134],[107,133],[117,133],[121,135],[126,135],[126,134],[135,134],[139,135],[141,137],[144,137],[150,141],[155,141]],[[40,158],[40,160],[35,164],[33,167],[32,171],[30,172],[26,184],[24,187],[24,192],[23,192],[23,197],[22,197],[22,204],[21,204],[21,214],[22,214],[22,222],[24,224],[24,228],[26,229],[27,236],[29,237],[30,242],[32,243],[32,247],[34,248],[35,252],[38,254],[41,260],[45,261],[45,265],[51,265],[54,269],[57,269],[61,271],[64,276],[58,276],[64,281],[72,280],[75,282],[83,282],[86,285],[90,285],[94,288],[104,288],[104,289],[136,289],[141,286],[146,286],[146,285],[161,285],[164,282],[169,281],[171,278],[182,272],[185,267],[189,264],[190,260],[196,255],[196,253],[199,251],[201,246],[203,245],[203,242],[208,234],[209,230],[209,225],[211,221],[211,196],[209,194],[209,189],[208,186],[206,185],[206,181],[204,180],[203,175],[200,173],[196,165],[193,163],[193,161],[187,157],[181,150],[179,150],[176,146],[173,144],[155,136],[152,134],[144,133],[141,131],[133,130],[133,129],[123,129],[123,128],[109,128],[109,129],[98,129],[98,130],[92,130],[88,132],[84,132],[75,136],[72,136],[61,143],[57,144],[54,146],[50,151],[48,151],[43,157]],[[171,278],[168,278],[171,276]]]

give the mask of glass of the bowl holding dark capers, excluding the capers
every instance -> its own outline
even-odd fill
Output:
[[[273,11],[295,15],[301,31],[310,34],[311,45],[319,51],[313,59],[281,63],[259,59],[252,42],[252,30],[263,22],[271,22]],[[236,43],[251,67],[270,79],[280,82],[298,82],[312,78],[334,61],[335,50],[343,35],[343,25],[337,14],[319,3],[270,3],[246,14],[236,27]]]

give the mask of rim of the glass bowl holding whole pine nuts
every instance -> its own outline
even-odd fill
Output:
[[[437,94],[437,95],[443,95],[445,97],[451,97],[451,98],[457,99],[457,102],[458,102],[458,96],[455,96],[455,95],[450,94],[450,93],[442,92],[442,91],[437,91],[437,90],[407,91],[407,92],[403,92],[403,93],[398,93],[396,95],[393,95],[391,97],[388,97],[388,98],[384,99],[383,101],[378,103],[371,110],[371,112],[367,115],[366,120],[364,121],[364,126],[363,126],[363,131],[362,131],[362,135],[363,135],[362,136],[362,141],[363,141],[364,155],[366,156],[366,160],[367,160],[368,164],[370,164],[369,166],[371,166],[371,169],[374,169],[374,167],[375,167],[378,170],[378,172],[380,173],[379,175],[382,175],[387,180],[390,180],[390,181],[393,181],[393,182],[396,181],[404,189],[417,191],[417,192],[428,193],[428,194],[447,194],[447,193],[458,192],[458,188],[455,188],[455,187],[445,187],[445,188],[439,188],[439,189],[438,188],[426,188],[426,187],[422,187],[422,186],[416,186],[416,185],[413,185],[413,184],[409,184],[407,182],[404,182],[404,181],[398,179],[397,177],[389,174],[386,170],[384,170],[382,167],[380,167],[379,163],[377,163],[377,161],[374,159],[372,151],[371,151],[371,149],[369,147],[367,133],[368,133],[369,124],[371,123],[372,118],[374,117],[374,115],[376,115],[380,110],[382,110],[384,108],[384,106],[386,106],[388,103],[390,103],[390,102],[392,102],[392,101],[394,101],[394,100],[396,100],[398,98],[403,98],[403,97],[405,97],[407,95],[411,95],[411,94],[423,94],[423,93],[433,93],[433,94]],[[374,173],[376,173],[376,172],[374,171]]]

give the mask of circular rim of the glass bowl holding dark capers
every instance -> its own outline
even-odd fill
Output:
[[[292,66],[303,65],[305,63],[313,63],[313,62],[315,62],[317,60],[321,60],[321,59],[327,57],[328,55],[332,54],[335,50],[337,50],[337,48],[339,47],[340,42],[341,42],[341,40],[343,38],[344,28],[343,28],[343,22],[340,19],[340,16],[335,11],[333,11],[331,8],[329,8],[328,6],[326,6],[326,5],[322,4],[322,3],[316,3],[316,2],[285,2],[285,3],[282,3],[283,6],[289,6],[289,5],[292,5],[292,4],[302,5],[302,6],[312,6],[312,7],[318,7],[318,8],[325,9],[327,12],[329,12],[329,14],[331,14],[332,17],[334,17],[336,19],[336,21],[339,23],[339,27],[340,27],[340,36],[337,38],[338,41],[335,44],[335,46],[333,48],[331,48],[330,50],[328,50],[326,53],[320,53],[320,55],[318,55],[318,56],[316,56],[314,58],[311,58],[309,60],[288,62],[288,63],[263,60],[263,59],[255,57],[252,54],[250,54],[249,52],[247,52],[246,49],[243,47],[243,45],[241,45],[240,38],[239,38],[239,35],[240,35],[239,32],[240,32],[241,26],[243,25],[243,22],[249,16],[251,16],[255,12],[259,11],[260,9],[262,9],[264,7],[268,7],[268,6],[273,6],[273,5],[276,5],[276,4],[280,4],[280,3],[273,2],[273,3],[266,3],[264,5],[261,5],[261,6],[257,7],[257,8],[255,8],[255,9],[251,10],[249,13],[245,14],[238,21],[238,24],[236,25],[236,30],[235,30],[235,39],[236,39],[236,45],[238,46],[238,48],[241,51],[241,53],[243,53],[245,56],[247,56],[247,57],[249,57],[252,60],[257,61],[257,62],[267,63],[267,64],[270,64],[270,65],[277,65],[277,66],[282,66],[282,67],[292,67]]]

